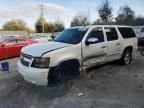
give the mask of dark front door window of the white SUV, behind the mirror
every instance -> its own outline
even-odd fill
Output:
[[[88,38],[97,38],[99,40],[98,43],[104,42],[104,34],[102,28],[95,28],[89,35]]]

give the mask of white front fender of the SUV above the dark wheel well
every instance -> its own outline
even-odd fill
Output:
[[[81,45],[73,45],[70,47],[58,49],[52,52],[48,52],[43,57],[50,57],[49,67],[55,67],[63,61],[76,59],[81,65]]]

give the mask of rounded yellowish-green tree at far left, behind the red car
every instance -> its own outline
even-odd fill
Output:
[[[29,27],[27,27],[26,23],[21,19],[14,19],[6,22],[3,25],[2,30],[32,32],[32,30]]]

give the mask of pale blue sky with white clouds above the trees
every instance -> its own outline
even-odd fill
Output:
[[[12,19],[23,19],[34,29],[40,16],[40,4],[44,4],[44,17],[48,22],[61,19],[66,28],[78,12],[89,13],[91,22],[98,16],[98,7],[105,0],[0,0],[0,27]],[[113,16],[118,13],[120,6],[127,4],[137,16],[144,16],[144,0],[109,0],[113,9]]]

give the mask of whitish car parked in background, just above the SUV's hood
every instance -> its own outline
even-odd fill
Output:
[[[51,37],[45,37],[45,36],[32,36],[31,37],[32,40],[36,40],[38,42],[48,42],[48,41],[52,41]]]

